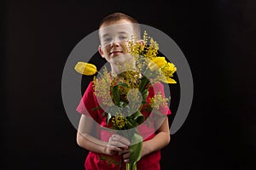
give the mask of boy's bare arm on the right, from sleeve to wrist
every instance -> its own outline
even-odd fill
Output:
[[[148,155],[151,152],[161,150],[167,144],[170,143],[171,136],[169,131],[168,117],[166,116],[165,121],[158,129],[153,139],[143,142],[142,157]]]

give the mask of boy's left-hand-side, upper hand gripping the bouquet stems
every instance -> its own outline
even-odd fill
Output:
[[[106,154],[113,156],[119,153],[119,155],[121,155],[125,151],[127,156],[126,152],[129,150],[129,144],[130,141],[125,137],[122,137],[119,134],[113,134],[108,140]]]

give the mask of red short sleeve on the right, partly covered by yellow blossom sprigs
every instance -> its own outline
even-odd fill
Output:
[[[162,98],[166,98],[165,94],[165,88],[164,85],[161,82],[155,82],[149,89],[148,89],[148,103],[150,102],[150,99],[154,97],[156,94],[161,94]],[[159,111],[163,115],[170,115],[172,112],[169,108],[169,105],[166,102],[166,105],[161,105],[159,108]]]

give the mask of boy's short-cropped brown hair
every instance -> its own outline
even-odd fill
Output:
[[[110,24],[110,23],[118,21],[118,20],[130,21],[133,24],[133,29],[137,35],[137,38],[141,37],[141,28],[140,28],[138,21],[135,18],[132,18],[128,14],[124,14],[124,13],[117,12],[117,13],[113,13],[113,14],[108,14],[100,22],[99,28],[101,28],[103,24]]]

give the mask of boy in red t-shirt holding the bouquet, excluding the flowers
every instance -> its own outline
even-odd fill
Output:
[[[134,62],[126,50],[126,41],[134,34],[138,38],[140,37],[139,24],[137,20],[126,14],[109,14],[100,23],[101,45],[99,46],[99,53],[109,62],[113,74],[119,74],[120,68],[125,66],[125,63],[132,64]],[[160,86],[159,89],[164,95],[163,87]],[[77,108],[77,111],[82,113],[77,142],[80,147],[90,150],[84,167],[86,170],[119,169],[121,160],[129,162],[131,142],[121,135],[102,130],[102,127],[107,127],[106,120],[102,118],[102,111],[98,111],[98,113],[91,111],[97,106],[93,83],[90,82]],[[170,113],[171,111],[168,110],[167,114]],[[137,169],[160,169],[160,150],[169,142],[169,124],[166,116],[161,126],[156,129],[156,133],[143,139],[142,157],[137,162]],[[125,163],[121,165],[122,169],[125,169]]]

